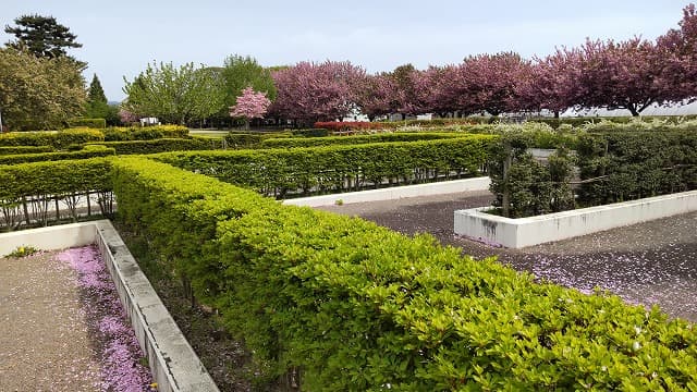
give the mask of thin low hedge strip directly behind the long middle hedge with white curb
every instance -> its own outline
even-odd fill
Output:
[[[354,145],[367,143],[387,143],[387,142],[418,142],[418,140],[437,140],[443,138],[454,138],[467,136],[463,133],[382,133],[375,135],[358,136],[328,136],[328,137],[304,137],[304,138],[269,138],[261,140],[261,148],[297,148],[297,147],[318,147],[334,145]]]

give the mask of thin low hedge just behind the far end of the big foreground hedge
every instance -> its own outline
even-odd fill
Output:
[[[221,147],[220,140],[204,137],[159,138],[154,140],[102,142],[101,146],[113,148],[118,155],[158,154],[167,151],[210,150]]]

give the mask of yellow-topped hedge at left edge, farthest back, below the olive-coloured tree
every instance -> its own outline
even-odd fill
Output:
[[[103,142],[99,130],[64,130],[56,132],[10,132],[0,134],[0,146],[50,146],[66,149],[71,145],[84,145],[91,142]]]

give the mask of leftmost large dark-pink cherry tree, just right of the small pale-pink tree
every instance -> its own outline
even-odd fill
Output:
[[[272,74],[274,114],[302,125],[341,120],[357,108],[366,72],[348,61],[299,62]]]

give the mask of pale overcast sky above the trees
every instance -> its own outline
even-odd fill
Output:
[[[87,82],[97,74],[109,100],[124,98],[148,62],[221,65],[249,54],[262,65],[348,60],[368,72],[419,69],[469,54],[543,57],[586,37],[655,39],[676,28],[687,0],[309,1],[2,0],[0,23],[52,15],[77,35]],[[0,33],[2,42],[12,37]]]

